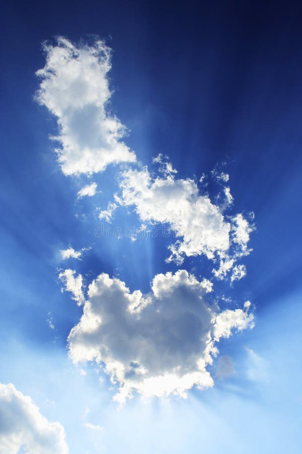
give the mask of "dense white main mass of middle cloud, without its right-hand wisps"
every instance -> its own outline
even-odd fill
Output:
[[[216,251],[229,249],[230,223],[207,196],[198,194],[191,179],[175,179],[172,174],[150,176],[148,169],[128,170],[122,174],[121,203],[134,205],[141,221],[161,222],[171,226],[177,238],[169,261],[179,264],[183,256],[205,254],[214,258]]]

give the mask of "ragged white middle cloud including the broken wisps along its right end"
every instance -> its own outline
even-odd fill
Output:
[[[177,240],[169,247],[168,262],[181,264],[185,256],[204,254],[219,264],[213,272],[223,278],[237,258],[250,253],[247,243],[254,228],[243,214],[224,215],[226,206],[233,203],[229,187],[223,188],[224,200],[218,206],[208,195],[200,195],[194,180],[177,179],[174,173],[172,166],[155,178],[147,167],[128,169],[121,174],[121,195],[115,195],[116,202],[134,206],[142,222],[170,226]]]

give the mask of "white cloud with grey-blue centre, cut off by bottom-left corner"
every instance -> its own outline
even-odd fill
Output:
[[[20,450],[20,451],[19,451]],[[67,454],[65,431],[41,415],[29,396],[0,383],[0,453]]]

